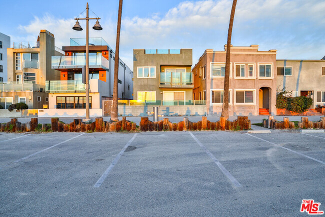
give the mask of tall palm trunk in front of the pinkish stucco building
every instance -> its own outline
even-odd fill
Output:
[[[222,112],[221,117],[225,117],[225,119],[229,118],[229,74],[230,74],[230,44],[231,44],[231,33],[232,33],[232,24],[234,11],[236,9],[237,0],[233,0],[229,28],[228,28],[228,39],[227,39],[227,48],[225,55],[225,73],[224,73],[224,86],[223,86],[223,104],[222,104]]]

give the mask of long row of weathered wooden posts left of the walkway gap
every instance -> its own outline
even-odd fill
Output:
[[[201,121],[190,122],[188,118],[178,123],[171,123],[168,118],[161,121],[152,122],[148,117],[141,117],[139,129],[140,131],[183,131],[183,130],[246,130],[250,129],[250,120],[247,116],[238,116],[234,121],[228,121],[220,117],[219,121],[210,122],[206,117],[202,117]],[[27,123],[20,123],[17,118],[0,124],[2,132],[30,132],[30,131],[52,131],[52,132],[120,132],[135,131],[136,124],[122,117],[121,121],[107,122],[102,117],[96,118],[92,123],[84,123],[81,119],[73,119],[71,123],[63,123],[58,118],[51,118],[51,124],[41,124],[38,127],[38,119],[31,118]]]

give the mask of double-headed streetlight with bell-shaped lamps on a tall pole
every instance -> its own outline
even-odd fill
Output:
[[[81,31],[82,28],[78,22],[78,20],[86,20],[86,71],[85,71],[85,84],[86,84],[86,119],[89,120],[89,28],[88,23],[89,20],[97,20],[95,25],[92,27],[94,30],[102,30],[101,26],[99,25],[98,20],[100,18],[89,18],[88,17],[88,3],[86,7],[86,18],[75,18],[76,20],[75,25],[72,27],[73,30]],[[86,121],[87,121],[86,120]]]

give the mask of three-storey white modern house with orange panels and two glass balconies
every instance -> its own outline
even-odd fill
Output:
[[[64,56],[51,57],[51,69],[60,71],[59,79],[47,80],[49,109],[85,108],[85,38],[70,39],[63,46]],[[102,38],[89,38],[89,108],[102,108],[102,100],[113,96],[115,53]],[[118,98],[132,99],[133,72],[119,60]]]

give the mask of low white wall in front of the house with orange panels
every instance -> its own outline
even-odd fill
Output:
[[[85,117],[85,109],[38,109],[38,117]],[[90,117],[101,117],[102,109],[89,109]]]

